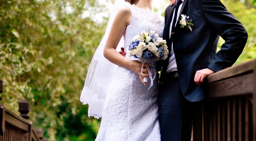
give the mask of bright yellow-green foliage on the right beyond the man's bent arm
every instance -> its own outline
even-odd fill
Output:
[[[248,40],[244,51],[235,64],[256,58],[256,9],[247,9],[247,7],[240,1],[233,2],[232,0],[222,0],[222,2],[227,9],[244,25],[248,32]],[[220,48],[223,43],[224,40],[220,39],[218,47]]]

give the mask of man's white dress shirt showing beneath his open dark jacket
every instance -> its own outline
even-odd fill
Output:
[[[184,0],[182,0],[182,1],[184,1]],[[182,5],[183,5],[183,3],[180,4],[179,9],[178,9],[177,19],[175,21],[176,22],[175,26],[177,25],[177,21],[180,18],[178,16],[180,15],[180,10],[181,10]],[[169,34],[169,37],[171,37],[173,19],[174,19],[174,12],[173,12],[173,15],[172,15],[172,22],[170,24],[170,34]],[[173,71],[177,71],[177,64],[176,64],[176,59],[175,59],[175,55],[174,55],[174,52],[173,52],[173,43],[172,43],[172,50],[170,52],[170,58],[169,58],[169,61],[168,61],[167,72],[173,72]]]

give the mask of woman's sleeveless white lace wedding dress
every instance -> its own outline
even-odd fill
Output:
[[[132,19],[124,34],[125,50],[132,38],[142,31],[154,30],[160,37],[163,35],[163,17],[149,10],[128,7]],[[96,141],[160,141],[158,78],[148,90],[149,83],[144,86],[136,73],[122,67],[116,69]]]

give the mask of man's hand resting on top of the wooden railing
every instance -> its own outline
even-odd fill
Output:
[[[212,69],[201,69],[195,73],[194,81],[198,85],[201,85],[202,83],[204,83],[204,80],[205,78],[207,78],[207,76],[212,75],[214,73],[215,71]]]

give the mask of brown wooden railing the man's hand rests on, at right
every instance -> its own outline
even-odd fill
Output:
[[[207,78],[193,141],[256,141],[256,59]]]

